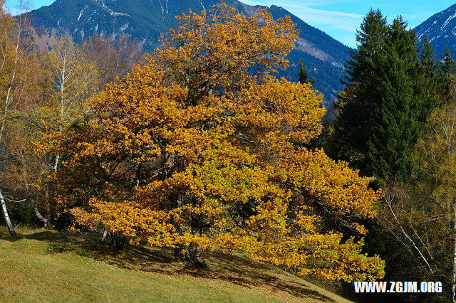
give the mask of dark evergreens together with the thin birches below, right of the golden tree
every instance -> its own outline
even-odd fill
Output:
[[[368,250],[386,261],[386,279],[441,281],[455,299],[455,61],[380,11],[356,38],[323,146],[383,188]]]

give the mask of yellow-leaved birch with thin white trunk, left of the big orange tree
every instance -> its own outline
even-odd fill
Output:
[[[85,115],[84,103],[98,89],[97,70],[89,60],[81,46],[73,43],[71,36],[63,35],[43,58],[45,102],[36,115],[38,131],[46,140],[48,134],[62,132],[76,120]],[[43,153],[41,149],[36,152]],[[61,154],[47,154],[45,171],[56,172],[60,164]],[[41,206],[50,216],[52,186],[47,186]],[[50,220],[50,218],[46,218]]]

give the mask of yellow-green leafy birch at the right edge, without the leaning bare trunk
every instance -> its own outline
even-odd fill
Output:
[[[453,94],[455,84],[452,84]],[[456,105],[438,110],[432,115],[427,125],[427,134],[418,143],[418,164],[420,171],[417,177],[422,180],[422,187],[428,188],[429,204],[432,213],[427,221],[440,232],[432,235],[434,240],[441,240],[443,247],[432,254],[443,253],[444,261],[452,270],[452,301],[456,302]],[[424,183],[424,184],[423,184]],[[428,237],[429,238],[429,237]],[[448,240],[447,240],[448,239]],[[443,250],[443,251],[442,251]],[[437,257],[435,258],[437,260]],[[451,265],[451,266],[450,266]]]

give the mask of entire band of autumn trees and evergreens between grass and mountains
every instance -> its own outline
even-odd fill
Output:
[[[242,252],[333,289],[439,281],[442,294],[399,299],[456,302],[450,50],[436,58],[371,10],[326,109],[306,62],[298,83],[278,77],[298,36],[289,17],[221,2],[182,13],[152,52],[68,33],[43,49],[27,14],[1,10],[9,234],[91,233],[207,271],[207,255]]]

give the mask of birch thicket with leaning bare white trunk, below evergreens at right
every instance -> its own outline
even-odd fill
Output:
[[[452,94],[455,83],[452,84]],[[456,104],[436,110],[414,153],[414,186],[385,186],[378,218],[405,252],[404,276],[445,282],[456,302]],[[400,279],[400,277],[395,277]],[[403,277],[404,278],[404,277]]]

